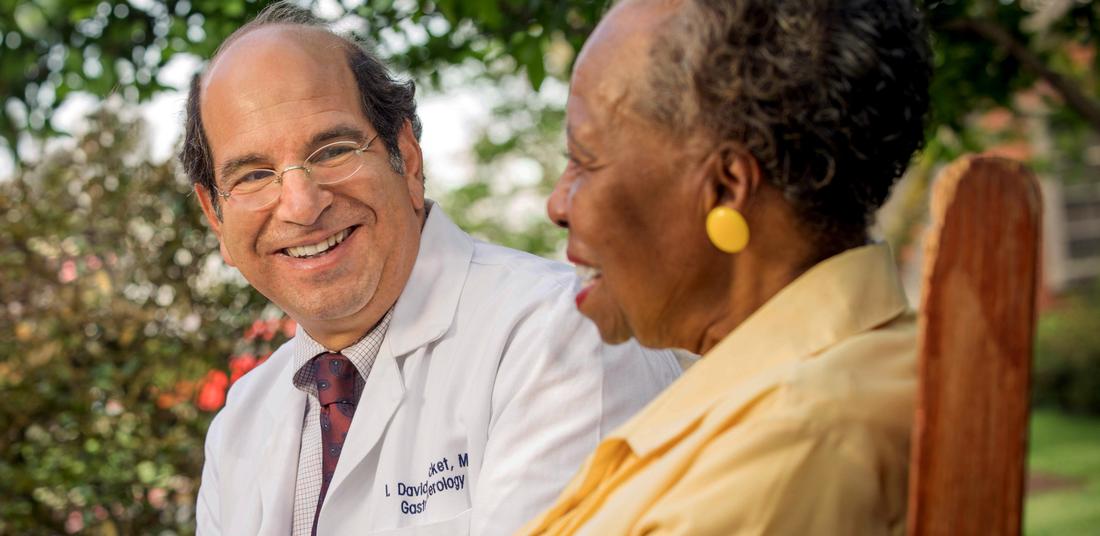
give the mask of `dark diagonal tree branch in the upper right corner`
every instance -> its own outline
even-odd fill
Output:
[[[1100,132],[1100,102],[1089,98],[1080,88],[1065,76],[1047,67],[1037,54],[1016,41],[1000,24],[978,19],[957,19],[944,25],[945,30],[970,32],[993,42],[994,45],[1004,48],[1012,57],[1016,58],[1023,67],[1032,74],[1038,76],[1057,91],[1074,111],[1088,121],[1092,130]]]

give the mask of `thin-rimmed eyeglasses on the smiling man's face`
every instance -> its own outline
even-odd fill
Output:
[[[233,173],[224,181],[224,188],[215,188],[218,196],[245,210],[263,210],[278,200],[283,193],[283,176],[301,169],[315,183],[332,185],[344,181],[363,168],[366,158],[363,153],[378,138],[374,134],[360,145],[353,141],[339,141],[314,151],[301,165],[287,166],[282,172],[275,169],[245,168]]]

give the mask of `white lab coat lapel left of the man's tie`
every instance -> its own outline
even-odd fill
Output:
[[[272,389],[264,404],[266,429],[271,437],[256,459],[261,526],[256,534],[289,534],[290,512],[294,512],[294,486],[298,478],[298,451],[301,447],[301,424],[306,412],[306,394],[294,387],[294,364]],[[243,534],[243,533],[242,533]]]

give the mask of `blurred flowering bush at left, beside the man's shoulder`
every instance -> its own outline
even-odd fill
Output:
[[[0,534],[194,529],[200,380],[265,300],[142,139],[100,111],[0,182]]]

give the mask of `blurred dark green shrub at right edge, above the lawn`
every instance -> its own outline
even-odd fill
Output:
[[[1100,284],[1040,318],[1032,379],[1037,405],[1100,415],[1098,318]]]

